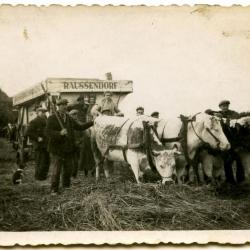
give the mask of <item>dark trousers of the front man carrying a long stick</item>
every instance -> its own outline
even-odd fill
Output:
[[[70,178],[73,169],[73,154],[67,154],[65,158],[61,156],[51,154],[51,167],[52,167],[52,177],[51,177],[51,190],[58,192],[60,185],[60,177],[62,174],[62,187],[70,187]]]

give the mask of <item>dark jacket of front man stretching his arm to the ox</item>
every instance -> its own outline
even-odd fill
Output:
[[[58,113],[59,115],[59,113]],[[84,124],[79,124],[73,120],[68,114],[65,114],[65,119],[59,115],[63,126],[67,129],[67,135],[62,136],[60,131],[62,128],[53,114],[48,118],[46,126],[46,135],[48,137],[48,151],[52,154],[67,157],[67,154],[73,153],[75,151],[75,133],[74,130],[85,130],[93,125],[93,122],[87,122]]]

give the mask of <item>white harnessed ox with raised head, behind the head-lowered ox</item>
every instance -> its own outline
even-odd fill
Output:
[[[167,121],[161,120],[157,128],[159,138],[164,141],[164,139],[169,140],[170,138],[178,137],[182,125],[183,123],[179,118]],[[185,135],[181,136],[183,137]],[[195,119],[188,121],[186,136],[186,157],[184,156],[185,149],[179,141],[165,143],[167,148],[171,149],[176,146],[179,151],[183,152],[182,155],[176,158],[176,175],[179,184],[183,183],[183,179],[188,175],[186,166],[189,163],[186,158],[188,157],[193,161],[197,150],[205,143],[213,149],[222,151],[230,148],[230,143],[222,130],[220,120],[215,116],[210,116],[205,113],[199,113],[195,116]],[[194,168],[194,166],[192,167]],[[198,166],[196,167],[198,168]],[[192,168],[190,168],[190,170],[192,170]]]

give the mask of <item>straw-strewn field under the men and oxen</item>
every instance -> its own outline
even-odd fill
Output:
[[[80,172],[70,190],[50,195],[49,179],[34,181],[34,163],[13,186],[15,152],[0,139],[0,231],[250,229],[250,187],[137,186],[129,168],[114,183]]]

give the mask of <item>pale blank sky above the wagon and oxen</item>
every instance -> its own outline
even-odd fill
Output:
[[[48,77],[132,80],[125,114],[250,111],[250,7],[1,7],[0,88]]]

